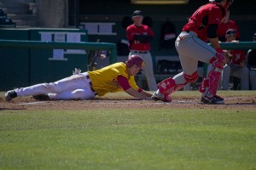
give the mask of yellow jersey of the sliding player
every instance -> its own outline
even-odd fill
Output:
[[[119,75],[126,77],[131,88],[138,90],[137,84],[133,76],[129,76],[125,63],[119,62],[113,65],[108,65],[96,71],[88,71],[92,88],[99,96],[124,91],[119,86],[117,77]]]

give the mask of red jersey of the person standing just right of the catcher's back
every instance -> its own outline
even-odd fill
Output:
[[[238,31],[238,26],[236,25],[236,22],[234,20],[229,20],[228,23],[224,23],[222,22],[219,26],[218,26],[218,39],[221,42],[225,42],[226,41],[226,31],[229,29],[234,29],[236,30],[236,40],[239,40],[240,38],[240,33]]]

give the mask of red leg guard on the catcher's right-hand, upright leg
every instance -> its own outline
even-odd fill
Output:
[[[210,60],[210,65],[208,66],[207,77],[203,78],[200,86],[200,92],[203,96],[212,98],[217,93],[218,81],[221,77],[222,70],[224,68],[225,57],[223,54],[216,54]]]

